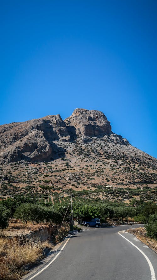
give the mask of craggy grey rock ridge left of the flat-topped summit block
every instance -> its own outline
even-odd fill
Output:
[[[53,140],[69,141],[60,115],[0,126],[0,162],[41,161],[53,154]]]

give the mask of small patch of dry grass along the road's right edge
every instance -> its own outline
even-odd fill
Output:
[[[127,232],[134,234],[140,241],[157,253],[157,240],[147,237],[145,228],[130,228]]]

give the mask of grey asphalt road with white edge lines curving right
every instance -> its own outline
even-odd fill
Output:
[[[84,227],[84,231],[74,233],[70,239],[69,235],[57,245],[41,265],[31,270],[23,279],[157,280],[154,276],[155,272],[157,277],[157,254],[134,235],[122,232],[129,227],[131,226],[88,229]],[[119,231],[137,246],[148,260],[133,244],[119,235]],[[42,269],[44,270],[36,275]]]

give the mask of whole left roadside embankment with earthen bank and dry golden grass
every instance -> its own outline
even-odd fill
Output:
[[[68,224],[11,223],[0,231],[0,279],[18,280],[69,232]]]

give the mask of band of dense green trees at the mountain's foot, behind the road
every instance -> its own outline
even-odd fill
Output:
[[[49,222],[61,223],[66,213],[68,203],[56,203],[55,205],[43,203],[28,196],[16,196],[0,201],[0,227],[6,228],[9,219],[16,218],[22,222]],[[69,222],[71,210],[68,209],[65,221]],[[143,202],[137,207],[132,206],[108,206],[100,203],[90,204],[73,203],[74,219],[90,220],[93,217],[100,218],[101,222],[134,218],[135,222],[147,224],[149,236],[157,238],[157,205],[153,202]]]

